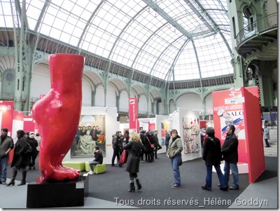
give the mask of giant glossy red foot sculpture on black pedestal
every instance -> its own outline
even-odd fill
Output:
[[[80,170],[64,167],[62,160],[71,148],[80,119],[84,57],[53,54],[49,63],[50,92],[32,108],[41,132],[39,169],[45,179],[75,179]]]

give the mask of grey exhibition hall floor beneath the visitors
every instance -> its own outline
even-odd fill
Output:
[[[83,207],[71,208],[144,208],[144,209],[226,209],[226,208],[278,208],[278,158],[265,157],[266,170],[253,184],[248,183],[248,174],[239,177],[240,189],[221,191],[218,178],[213,172],[212,191],[204,191],[206,169],[204,161],[197,158],[184,162],[180,168],[181,186],[171,188],[173,172],[169,158],[160,154],[153,163],[141,163],[139,179],[141,191],[127,192],[128,172],[124,168],[106,165],[106,172],[100,175],[88,175],[89,196]],[[38,169],[38,168],[37,168]],[[12,170],[8,166],[8,177]],[[38,170],[28,170],[27,182],[34,182],[40,176]],[[15,186],[0,185],[1,208],[25,208],[27,205],[27,185],[17,186],[21,180],[18,173]],[[9,182],[10,179],[7,179]],[[232,184],[230,177],[230,185]],[[186,205],[188,204],[188,205]],[[59,207],[69,208],[69,207]]]

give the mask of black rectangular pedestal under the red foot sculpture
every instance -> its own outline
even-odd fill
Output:
[[[38,179],[39,180],[39,179]],[[68,181],[44,181],[27,185],[27,208],[83,206],[88,177]]]

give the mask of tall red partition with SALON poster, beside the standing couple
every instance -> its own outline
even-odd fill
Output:
[[[213,92],[212,98],[216,137],[223,144],[227,124],[235,125],[239,162],[248,163],[249,182],[255,182],[265,171],[258,87]]]

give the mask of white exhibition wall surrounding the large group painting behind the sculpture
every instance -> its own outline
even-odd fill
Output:
[[[106,164],[111,163],[113,148],[112,148],[112,135],[119,130],[120,123],[117,121],[117,108],[116,107],[82,107],[80,115],[104,115],[105,116],[105,135],[106,135],[106,156],[103,162]],[[63,161],[92,161],[92,157],[71,158],[71,151],[66,154]]]

